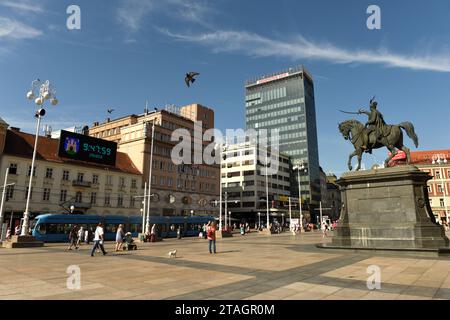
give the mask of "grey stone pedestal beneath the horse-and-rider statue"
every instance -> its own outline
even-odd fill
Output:
[[[427,181],[415,166],[344,173],[342,208],[325,247],[426,250],[449,246],[430,208]]]

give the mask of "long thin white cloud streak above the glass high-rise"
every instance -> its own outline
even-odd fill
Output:
[[[270,39],[245,31],[215,31],[195,35],[175,34],[160,29],[166,35],[187,42],[211,47],[215,52],[242,52],[258,57],[284,57],[293,60],[316,59],[332,63],[381,64],[413,70],[450,72],[450,56],[402,55],[378,50],[349,50],[332,44],[319,44],[298,36],[293,41]]]

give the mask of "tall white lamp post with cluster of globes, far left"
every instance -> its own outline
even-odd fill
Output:
[[[36,90],[39,88],[38,96],[36,96]],[[27,92],[27,98],[29,100],[34,100],[34,103],[37,106],[42,106],[46,100],[49,100],[50,103],[54,106],[58,104],[58,99],[56,99],[56,91],[50,85],[50,81],[41,82],[39,79],[34,80],[31,83],[31,89]],[[34,139],[34,149],[33,149],[33,158],[31,160],[31,171],[30,171],[30,181],[28,184],[28,193],[27,193],[27,202],[25,205],[25,212],[23,213],[23,224],[22,224],[22,232],[21,236],[28,235],[28,228],[30,225],[30,198],[31,198],[31,186],[33,182],[33,174],[34,174],[34,162],[36,160],[36,151],[37,151],[37,142],[39,137],[39,128],[41,126],[41,118],[45,115],[44,108],[40,108],[36,111],[35,117],[37,118],[36,125],[36,135]]]

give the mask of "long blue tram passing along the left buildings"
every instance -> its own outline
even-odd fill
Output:
[[[198,236],[201,226],[208,221],[215,220],[211,216],[150,216],[150,228],[156,224],[158,237],[175,238],[180,227],[182,236]],[[84,230],[95,231],[97,224],[103,223],[105,240],[115,240],[119,224],[124,226],[125,232],[131,232],[137,237],[142,232],[142,217],[139,216],[99,216],[99,215],[69,215],[69,214],[42,214],[32,223],[32,235],[44,242],[67,242],[73,225]]]

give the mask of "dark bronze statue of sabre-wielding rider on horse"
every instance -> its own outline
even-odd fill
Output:
[[[355,151],[350,154],[348,159],[348,169],[352,170],[352,158],[358,156],[358,167],[361,169],[361,159],[364,152],[372,153],[372,149],[386,147],[390,151],[389,157],[385,160],[385,167],[389,161],[397,154],[397,150],[402,150],[406,154],[406,162],[410,163],[410,150],[403,145],[403,132],[405,130],[416,148],[419,146],[419,138],[414,132],[414,126],[411,122],[402,122],[398,125],[388,125],[384,121],[383,115],[377,110],[378,103],[375,97],[370,100],[370,111],[359,109],[358,112],[347,112],[350,114],[366,114],[369,119],[365,125],[357,120],[346,120],[339,124],[339,131],[345,140],[350,140]]]

